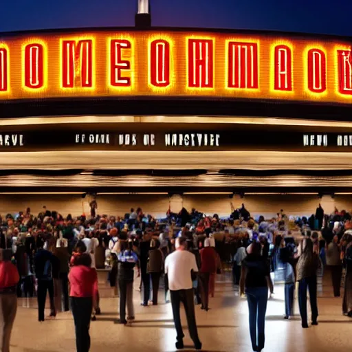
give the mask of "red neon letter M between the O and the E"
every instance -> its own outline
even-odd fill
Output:
[[[91,39],[63,41],[63,88],[76,87],[76,78],[80,79],[80,87],[93,86],[92,47]]]

